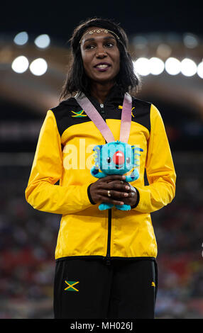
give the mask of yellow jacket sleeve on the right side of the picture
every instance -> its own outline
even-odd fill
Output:
[[[165,132],[165,126],[158,109],[150,108],[150,138],[146,159],[147,186],[136,187],[139,201],[136,208],[141,213],[152,213],[168,205],[175,197],[175,168]]]

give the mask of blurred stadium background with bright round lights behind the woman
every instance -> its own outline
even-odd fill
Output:
[[[195,1],[27,1],[1,6],[0,318],[52,318],[60,216],[28,205],[24,191],[40,126],[56,106],[67,40],[87,17],[128,33],[143,88],[160,110],[177,171],[175,200],[152,214],[158,241],[157,318],[202,318],[202,18]],[[19,58],[20,57],[20,58]],[[171,60],[172,58],[172,60]],[[175,58],[175,60],[174,60]]]

